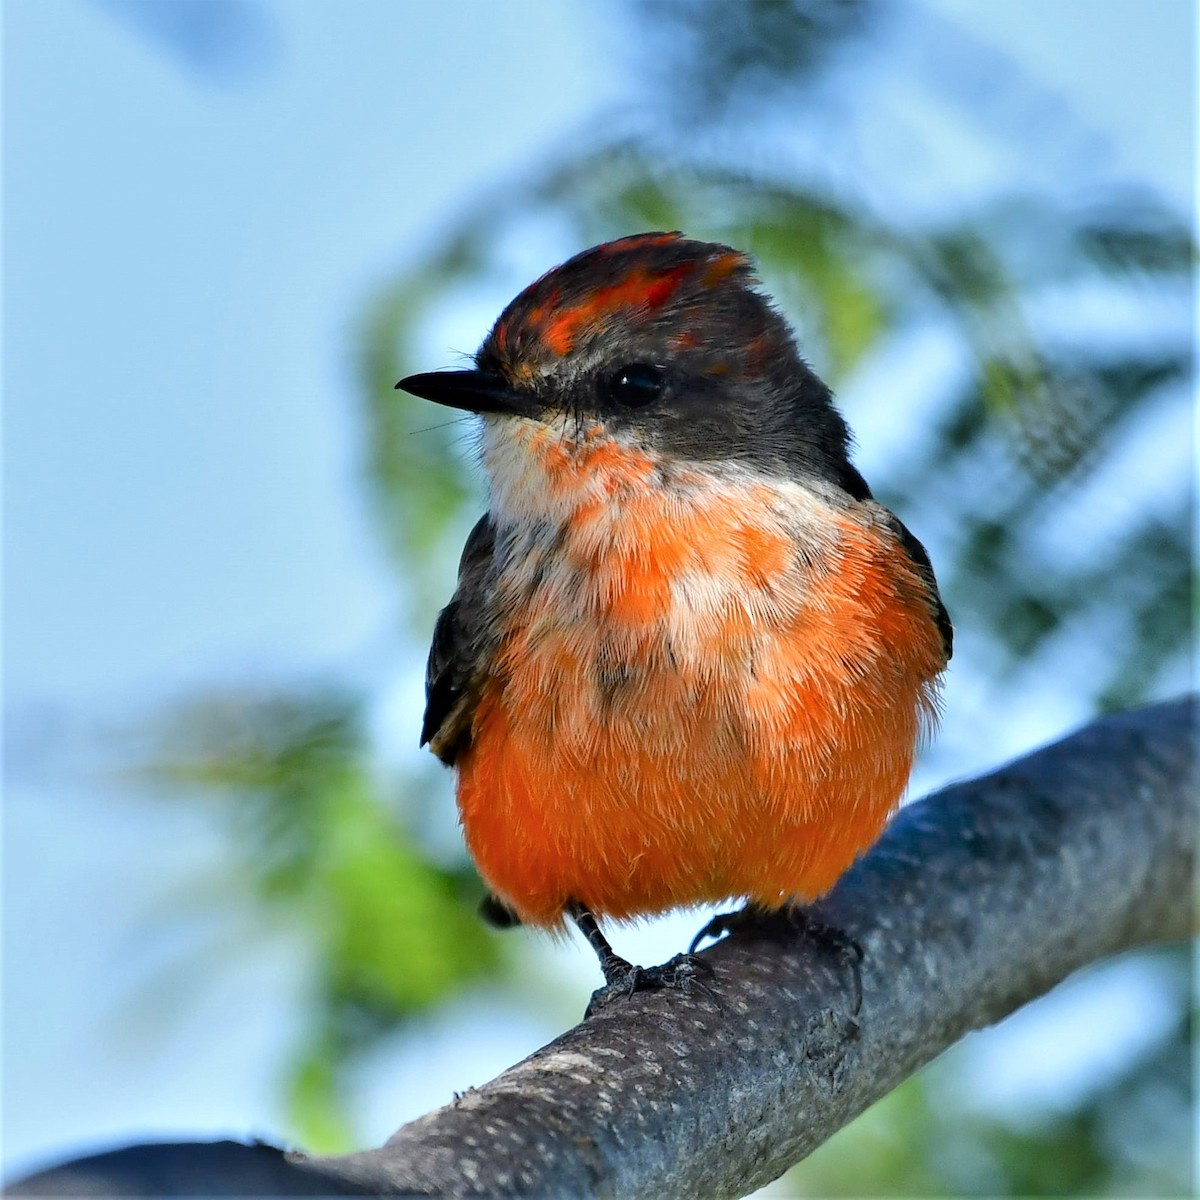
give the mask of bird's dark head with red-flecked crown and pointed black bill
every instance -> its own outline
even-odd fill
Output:
[[[846,425],[749,259],[678,233],[576,254],[500,314],[469,371],[398,388],[485,416],[598,432],[673,461],[865,488]],[[499,430],[497,430],[499,432]]]

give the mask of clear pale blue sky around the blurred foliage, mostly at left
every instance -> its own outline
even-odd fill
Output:
[[[584,6],[233,7],[258,49],[226,66],[181,54],[137,0],[4,10],[16,1165],[149,1132],[277,1132],[268,1081],[302,955],[257,930],[254,954],[227,958],[247,931],[209,929],[212,970],[146,1012],[139,980],[174,961],[154,914],[215,868],[220,841],[72,763],[190,688],[364,671],[395,644],[359,484],[354,323],[481,190],[629,95],[617,34]],[[1146,180],[1189,208],[1187,0],[928,11],[1062,97],[1093,131],[1097,180]],[[400,676],[415,721],[419,683]],[[1022,736],[1056,732],[1048,720]],[[678,936],[650,931],[647,956]],[[439,1014],[364,1080],[380,1136],[553,1032],[503,1004]],[[397,1100],[396,1079],[420,1082]]]

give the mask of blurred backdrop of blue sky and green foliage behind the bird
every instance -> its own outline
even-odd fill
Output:
[[[1186,690],[1194,22],[10,0],[7,1174],[378,1142],[578,1018],[590,953],[478,923],[416,751],[482,488],[392,384],[595,241],[751,251],[928,545],[958,638],[913,794]],[[1084,972],[770,1190],[1189,1194],[1189,976]]]

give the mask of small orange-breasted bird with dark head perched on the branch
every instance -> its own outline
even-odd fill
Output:
[[[881,835],[936,725],[953,626],[852,464],[748,254],[608,241],[504,308],[468,370],[488,509],[437,618],[421,745],[454,768],[485,916],[580,929],[596,994],[689,990],[601,923],[803,912]]]

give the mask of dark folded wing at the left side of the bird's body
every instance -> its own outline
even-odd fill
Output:
[[[470,740],[472,719],[496,649],[492,554],[496,528],[480,517],[458,563],[458,586],[438,614],[425,667],[425,722],[421,745],[446,764]]]

